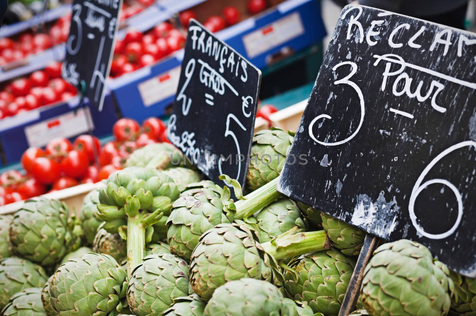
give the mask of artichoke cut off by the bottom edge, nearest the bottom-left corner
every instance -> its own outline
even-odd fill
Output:
[[[2,316],[47,316],[41,303],[41,288],[25,288],[10,297]]]

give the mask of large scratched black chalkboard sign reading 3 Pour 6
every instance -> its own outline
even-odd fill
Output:
[[[345,7],[278,191],[421,242],[475,277],[475,44],[466,31]]]

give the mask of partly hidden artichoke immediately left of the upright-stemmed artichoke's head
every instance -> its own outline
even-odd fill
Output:
[[[84,197],[81,211],[79,212],[79,220],[84,232],[86,244],[92,246],[98,227],[104,221],[97,218],[99,204],[99,189],[93,190]]]

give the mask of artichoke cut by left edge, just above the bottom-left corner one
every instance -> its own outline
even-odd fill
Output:
[[[0,260],[0,310],[13,294],[25,288],[40,288],[48,277],[40,266],[18,257]]]

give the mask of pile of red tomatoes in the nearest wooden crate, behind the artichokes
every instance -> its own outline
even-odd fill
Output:
[[[120,119],[113,127],[115,140],[101,147],[99,139],[81,135],[51,140],[45,149],[31,147],[21,157],[24,171],[0,175],[0,206],[83,183],[96,183],[120,170],[134,150],[150,143],[168,141],[166,126],[149,118],[142,126]]]

